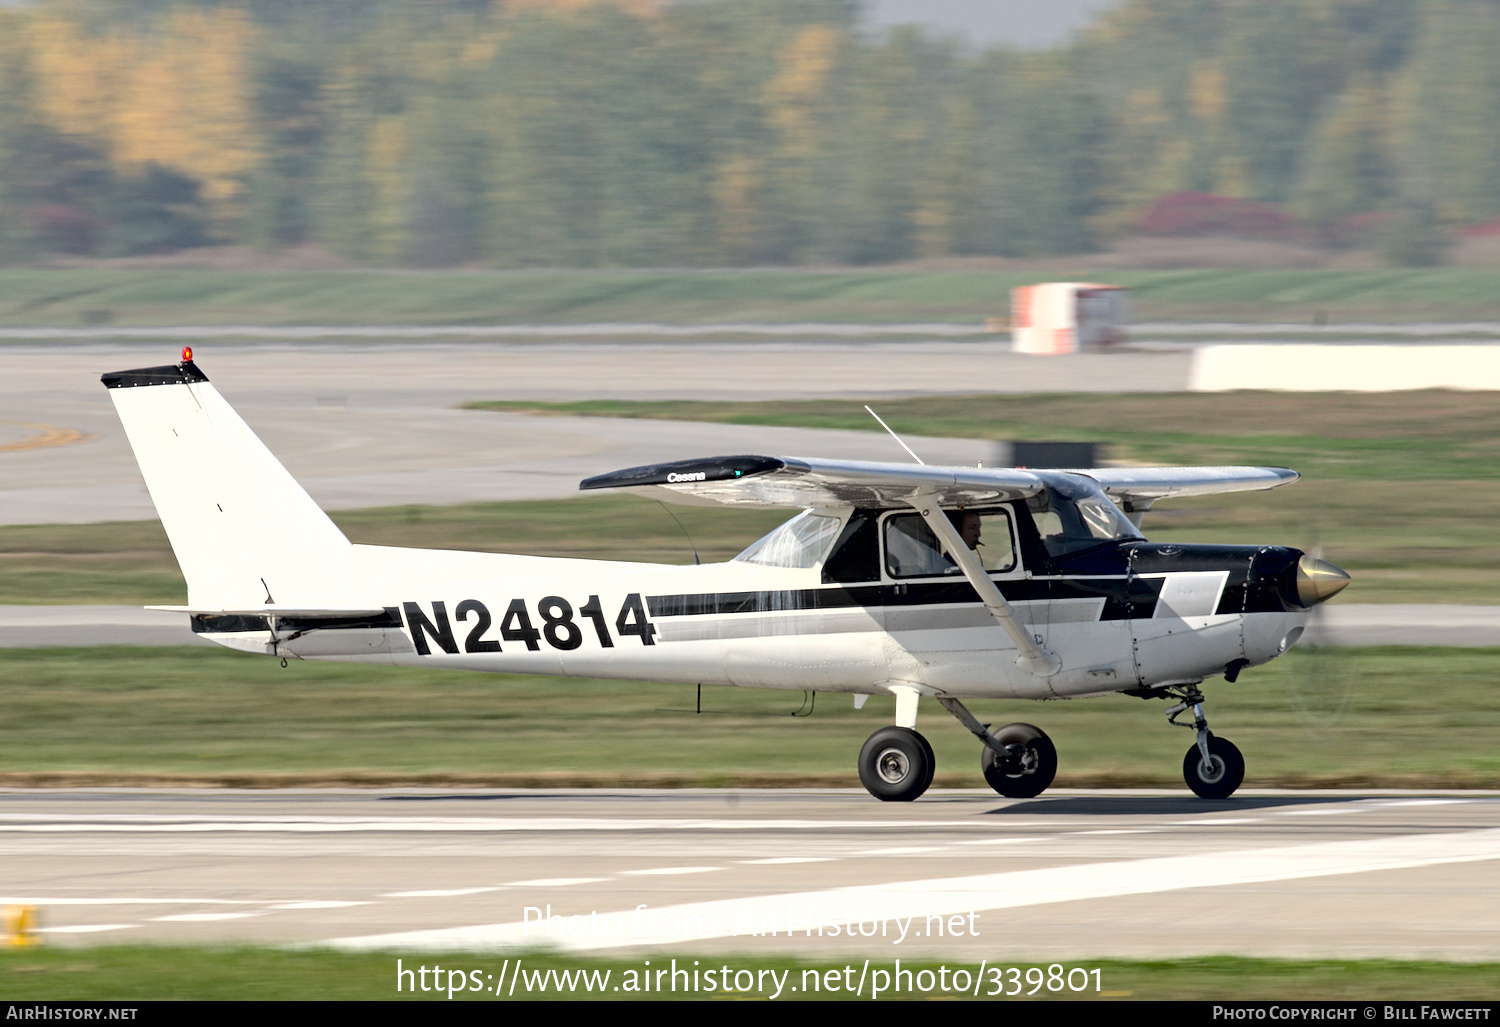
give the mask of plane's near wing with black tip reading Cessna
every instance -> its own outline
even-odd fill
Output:
[[[627,468],[586,478],[579,489],[628,489],[688,505],[904,507],[918,492],[940,504],[1023,499],[1046,489],[1030,471],[939,468],[920,463],[820,460],[798,456],[716,456]]]

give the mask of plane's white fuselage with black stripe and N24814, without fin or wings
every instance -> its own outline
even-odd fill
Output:
[[[844,513],[844,517],[849,514]],[[1106,546],[1018,564],[996,582],[1020,621],[1064,654],[1058,673],[1017,649],[963,577],[826,582],[824,564],[651,565],[352,546],[336,573],[350,622],[198,615],[222,645],[298,658],[502,673],[957,697],[1048,699],[1197,682],[1264,663],[1306,622],[1299,550]]]

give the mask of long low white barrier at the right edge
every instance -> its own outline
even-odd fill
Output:
[[[1188,388],[1222,393],[1390,393],[1408,388],[1500,390],[1500,345],[1227,345],[1192,354]]]

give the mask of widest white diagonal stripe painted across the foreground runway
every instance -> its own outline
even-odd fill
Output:
[[[615,937],[550,937],[562,949],[608,949],[642,945],[681,945],[684,940],[738,937],[753,925],[802,924],[824,918],[848,924],[957,916],[1023,906],[1149,895],[1196,888],[1227,888],[1269,882],[1362,874],[1440,864],[1500,859],[1500,828],[1458,834],[1366,838],[1274,849],[1244,849],[1192,856],[1161,856],[1104,864],[1048,867],[976,877],[938,877],[834,888],[816,892],[730,898],[648,910],[660,930],[640,933],[642,921],[630,910],[603,913],[624,925]],[[632,931],[632,925],[634,930]],[[669,934],[666,925],[676,933]],[[752,925],[752,927],[747,927]],[[688,934],[692,930],[692,934]],[[326,942],[339,949],[471,949],[494,951],[536,945],[537,925],[525,922],[402,931]]]

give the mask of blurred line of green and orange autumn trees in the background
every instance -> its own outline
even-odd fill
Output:
[[[1197,195],[1419,261],[1500,217],[1496,54],[1500,0],[1126,0],[1046,52],[872,37],[858,0],[32,0],[0,259],[1029,256]]]

